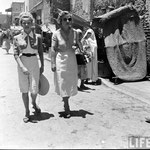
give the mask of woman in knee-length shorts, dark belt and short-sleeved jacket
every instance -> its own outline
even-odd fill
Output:
[[[31,93],[32,106],[36,114],[41,109],[36,104],[39,90],[40,74],[44,71],[44,59],[41,35],[35,34],[32,30],[33,17],[28,12],[20,14],[20,25],[23,30],[14,36],[13,49],[14,57],[18,64],[19,87],[25,106],[25,117],[23,121],[30,121],[29,92]],[[40,58],[40,67],[37,55]]]

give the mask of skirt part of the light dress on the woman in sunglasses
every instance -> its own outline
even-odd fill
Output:
[[[77,94],[78,71],[76,56],[73,52],[59,52],[56,56],[54,73],[55,92],[61,97]]]

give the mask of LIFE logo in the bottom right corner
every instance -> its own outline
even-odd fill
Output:
[[[150,137],[128,137],[129,149],[150,149]]]

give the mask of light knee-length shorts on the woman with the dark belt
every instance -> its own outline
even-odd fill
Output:
[[[31,92],[37,94],[39,90],[39,63],[37,56],[20,56],[20,59],[24,66],[28,69],[29,75],[23,74],[22,70],[18,66],[18,77],[20,92],[27,93]]]

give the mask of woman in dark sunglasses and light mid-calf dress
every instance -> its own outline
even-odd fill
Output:
[[[54,72],[55,92],[62,97],[65,118],[71,117],[69,98],[78,93],[78,70],[75,45],[82,44],[72,28],[72,15],[68,11],[59,14],[60,28],[53,33],[51,47],[51,70]]]

